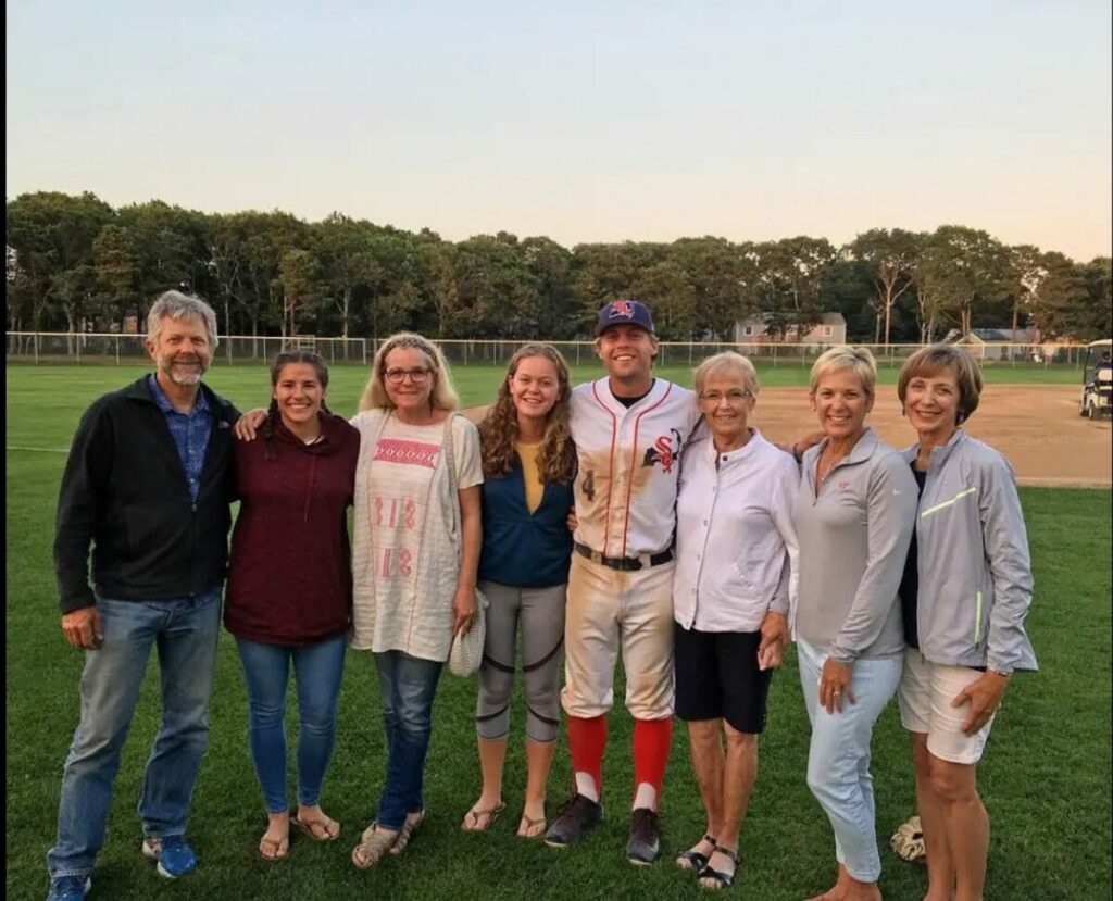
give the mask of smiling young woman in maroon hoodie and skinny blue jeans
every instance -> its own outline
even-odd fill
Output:
[[[359,433],[325,406],[328,368],[317,354],[278,354],[270,384],[260,439],[235,446],[240,508],[224,622],[244,666],[252,759],[269,816],[259,854],[277,860],[289,850],[290,824],[315,841],[339,835],[321,809],[321,791],[352,610],[346,511]],[[294,818],[284,727],[290,663],[299,717]]]

